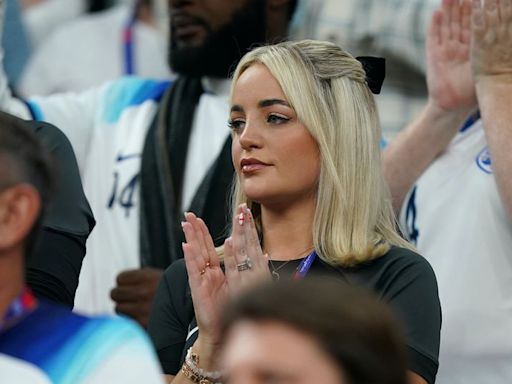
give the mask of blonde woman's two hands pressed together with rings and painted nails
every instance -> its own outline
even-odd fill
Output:
[[[240,205],[233,215],[232,234],[224,242],[222,261],[202,219],[186,213],[182,227],[186,239],[183,254],[197,324],[202,337],[215,342],[219,313],[226,301],[271,279],[268,258],[263,254],[254,218],[246,204]]]

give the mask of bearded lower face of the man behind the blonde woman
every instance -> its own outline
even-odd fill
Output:
[[[176,73],[227,78],[251,45],[265,41],[263,0],[169,0],[169,8]]]

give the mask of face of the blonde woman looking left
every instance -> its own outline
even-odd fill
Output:
[[[251,200],[269,205],[314,198],[318,145],[263,64],[252,65],[236,82],[230,126],[233,165]]]

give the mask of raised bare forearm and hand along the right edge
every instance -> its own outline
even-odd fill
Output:
[[[512,218],[512,1],[473,1],[471,64],[492,168]]]

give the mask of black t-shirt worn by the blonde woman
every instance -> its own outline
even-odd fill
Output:
[[[300,260],[273,262],[281,278],[291,278]],[[388,302],[402,322],[409,370],[428,383],[438,368],[441,307],[430,264],[420,255],[392,247],[384,256],[353,268],[333,267],[317,258],[309,276],[339,278],[368,288]],[[194,308],[183,260],[173,263],[158,287],[148,331],[167,374],[176,375],[184,354],[197,339]]]

